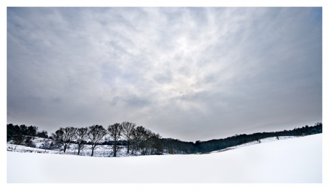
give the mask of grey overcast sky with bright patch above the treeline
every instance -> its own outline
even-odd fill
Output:
[[[196,141],[322,122],[321,8],[7,11],[7,123]]]

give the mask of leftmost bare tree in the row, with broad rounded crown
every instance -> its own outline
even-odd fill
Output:
[[[66,148],[76,139],[76,131],[77,128],[73,126],[68,126],[66,128],[61,127],[52,134],[52,137],[58,144],[62,144],[64,152],[66,152]]]

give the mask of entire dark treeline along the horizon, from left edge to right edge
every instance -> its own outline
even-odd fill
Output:
[[[179,139],[162,138],[159,134],[151,132],[143,126],[136,126],[132,122],[122,122],[109,125],[103,128],[101,125],[93,125],[84,128],[72,126],[59,128],[55,133],[48,136],[47,131],[38,131],[36,126],[25,126],[7,124],[7,141],[12,144],[35,147],[32,142],[34,137],[49,139],[43,144],[43,148],[62,148],[65,152],[70,144],[77,144],[78,152],[85,145],[91,146],[91,156],[97,146],[110,145],[113,156],[117,156],[117,151],[122,146],[127,147],[127,153],[138,151],[143,155],[150,154],[195,154],[197,152],[211,152],[222,150],[230,146],[237,146],[251,141],[258,141],[267,137],[282,136],[304,136],[322,133],[322,123],[318,122],[314,126],[302,126],[287,131],[253,133],[250,135],[234,135],[225,139],[212,139],[209,141],[180,141]]]

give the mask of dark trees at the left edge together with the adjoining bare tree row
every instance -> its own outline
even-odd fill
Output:
[[[103,139],[107,139],[106,136],[109,137],[110,141],[103,141]],[[113,157],[117,157],[119,143],[122,141],[127,147],[127,154],[130,153],[130,150],[136,150],[143,155],[162,152],[161,136],[143,126],[136,126],[132,122],[114,123],[107,128],[98,124],[82,128],[61,127],[50,136],[48,136],[47,131],[38,131],[36,126],[7,124],[7,141],[12,140],[13,144],[35,147],[32,144],[32,137],[49,139],[42,144],[42,148],[51,149],[62,146],[63,152],[66,152],[71,144],[77,144],[78,155],[82,148],[88,144],[91,146],[91,157],[93,157],[97,146],[107,144],[112,145]],[[51,142],[50,139],[52,139]]]

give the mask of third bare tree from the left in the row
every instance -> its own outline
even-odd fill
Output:
[[[101,125],[93,125],[88,128],[88,138],[91,142],[91,157],[94,155],[95,147],[99,144],[99,141],[106,135],[106,129]]]

